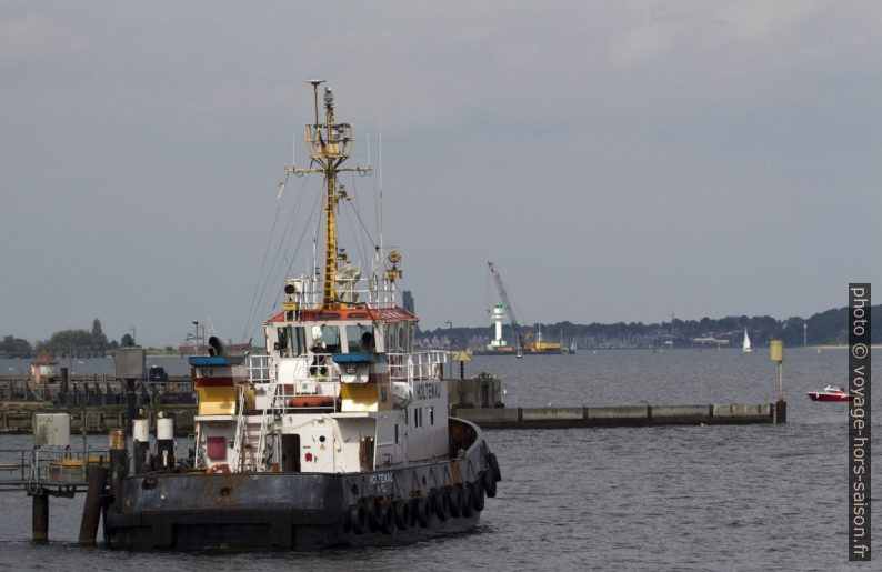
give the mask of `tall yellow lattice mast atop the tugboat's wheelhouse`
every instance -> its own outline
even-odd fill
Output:
[[[333,91],[329,87],[324,88],[324,123],[320,123],[319,86],[324,83],[324,80],[310,80],[309,82],[312,84],[315,99],[315,121],[312,124],[303,126],[304,140],[310,152],[310,167],[285,167],[285,172],[298,177],[320,172],[324,178],[324,275],[322,278],[322,301],[319,309],[327,310],[345,307],[337,299],[337,204],[340,199],[337,190],[338,173],[367,174],[371,168],[340,168],[352,151],[352,126],[335,121]]]

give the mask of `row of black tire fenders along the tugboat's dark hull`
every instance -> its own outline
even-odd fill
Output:
[[[392,534],[395,529],[427,528],[433,514],[441,522],[451,518],[469,519],[484,510],[484,494],[494,498],[497,483],[502,480],[497,455],[491,453],[488,460],[490,468],[471,483],[435,489],[425,496],[414,499],[362,499],[349,508],[347,528],[355,534],[378,531]]]

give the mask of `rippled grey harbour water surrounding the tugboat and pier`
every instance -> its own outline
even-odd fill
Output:
[[[51,542],[33,545],[30,499],[0,493],[0,568],[844,569],[846,404],[815,403],[805,392],[844,385],[848,353],[789,349],[785,360],[785,425],[487,431],[503,481],[473,534],[320,553],[129,554],[74,544],[82,496],[51,499]],[[502,377],[507,404],[522,407],[768,403],[778,392],[776,368],[763,349],[467,363],[467,374],[480,371]],[[29,443],[24,435],[0,436],[0,448]]]

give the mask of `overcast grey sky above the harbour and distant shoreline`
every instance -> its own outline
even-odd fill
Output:
[[[3,2],[0,335],[260,340],[277,208],[287,260],[318,192],[277,199],[313,77],[361,162],[382,122],[423,328],[488,323],[488,260],[527,323],[808,317],[882,284],[882,4],[518,4]]]

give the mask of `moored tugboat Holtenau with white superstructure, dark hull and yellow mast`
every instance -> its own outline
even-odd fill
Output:
[[[412,542],[473,529],[501,480],[481,430],[448,417],[443,352],[413,351],[395,304],[401,255],[362,280],[337,243],[338,175],[352,128],[311,81],[309,168],[323,175],[323,275],[289,279],[264,323],[265,355],[209,340],[190,358],[199,409],[189,459],[140,456],[113,474],[104,538],[131,550],[314,550]],[[378,258],[380,249],[377,249]],[[136,431],[137,432],[137,431]],[[158,435],[160,436],[160,435]],[[160,442],[163,442],[160,438]],[[128,466],[128,463],[127,463]]]

